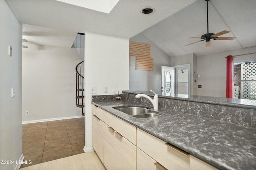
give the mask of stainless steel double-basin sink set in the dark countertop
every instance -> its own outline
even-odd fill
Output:
[[[140,107],[140,106],[117,106],[113,107],[119,111],[122,111],[128,115],[132,115],[137,118],[147,118],[147,117],[156,117],[160,116],[157,113],[153,113],[149,108]]]

